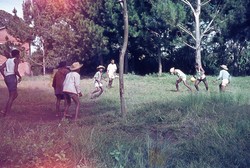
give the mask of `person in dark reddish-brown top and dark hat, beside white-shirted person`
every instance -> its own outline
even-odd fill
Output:
[[[66,61],[62,61],[58,65],[58,69],[53,77],[52,87],[54,88],[54,93],[56,96],[56,115],[60,116],[60,103],[64,100],[63,94],[63,82],[66,75],[70,72],[69,68],[66,66]],[[66,101],[64,101],[64,106],[66,107]]]

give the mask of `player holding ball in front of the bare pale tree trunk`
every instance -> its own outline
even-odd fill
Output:
[[[198,85],[200,84],[200,82],[203,82],[206,87],[206,90],[208,91],[208,83],[207,83],[207,78],[206,78],[204,69],[198,63],[195,63],[194,66],[195,66],[195,71],[196,71],[196,74],[195,74],[196,80],[195,80],[194,86],[196,90],[199,91]]]

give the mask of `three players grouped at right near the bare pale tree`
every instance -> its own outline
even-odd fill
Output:
[[[229,74],[226,65],[221,65],[220,67],[221,67],[220,74],[216,80],[221,80],[221,83],[219,85],[219,90],[225,91],[226,86],[230,83],[231,75]],[[198,63],[196,63],[195,70],[196,74],[191,78],[191,81],[194,82],[196,90],[199,91],[198,85],[200,84],[200,82],[203,82],[206,87],[206,90],[208,91],[208,83],[204,69]],[[187,84],[187,76],[185,73],[183,73],[180,69],[175,69],[174,67],[170,69],[170,73],[178,77],[175,84],[177,91],[179,91],[180,82],[183,82],[183,84],[190,91],[192,91],[191,87]]]

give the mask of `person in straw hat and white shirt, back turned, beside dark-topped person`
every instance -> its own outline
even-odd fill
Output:
[[[79,62],[74,62],[70,66],[70,72],[66,75],[66,78],[63,82],[63,93],[64,93],[64,98],[66,101],[66,106],[64,110],[64,117],[71,117],[69,115],[68,110],[69,106],[71,105],[71,99],[76,104],[76,110],[75,110],[75,120],[78,117],[79,113],[79,108],[80,108],[80,100],[79,97],[82,96],[81,90],[80,90],[80,68],[83,65],[80,64]]]

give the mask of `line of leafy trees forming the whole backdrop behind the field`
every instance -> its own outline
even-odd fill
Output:
[[[193,9],[201,3],[201,64],[216,74],[227,64],[234,75],[250,74],[248,0],[130,0],[127,72],[168,72],[172,66],[193,72],[196,61]],[[189,5],[191,4],[191,5]],[[190,8],[190,6],[193,7]],[[90,73],[99,64],[116,62],[123,40],[122,9],[114,0],[25,0],[24,21],[32,27],[23,37],[39,38],[44,65],[81,61]],[[1,20],[6,16],[1,15]],[[13,29],[20,29],[13,25]],[[21,32],[21,31],[20,31]],[[160,68],[159,68],[160,67]]]

